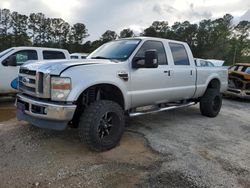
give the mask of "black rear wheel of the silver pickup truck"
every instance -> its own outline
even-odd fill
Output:
[[[222,95],[217,89],[207,89],[200,100],[201,114],[207,117],[216,117],[221,109]]]

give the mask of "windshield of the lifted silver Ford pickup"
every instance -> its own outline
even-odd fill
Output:
[[[140,39],[112,41],[102,45],[88,56],[88,59],[115,59],[125,61],[140,43]]]

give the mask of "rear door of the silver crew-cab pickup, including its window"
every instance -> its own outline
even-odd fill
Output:
[[[173,65],[171,85],[173,99],[190,99],[196,89],[196,67],[188,56],[186,47],[181,43],[169,42]]]

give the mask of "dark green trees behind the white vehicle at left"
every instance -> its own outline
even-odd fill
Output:
[[[89,36],[86,26],[70,26],[61,18],[46,18],[43,13],[29,16],[0,9],[0,51],[12,46],[46,46],[81,52]]]

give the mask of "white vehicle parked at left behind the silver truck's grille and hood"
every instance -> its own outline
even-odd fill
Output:
[[[70,59],[69,52],[56,48],[13,47],[0,52],[0,95],[17,92],[19,67],[25,62]]]

